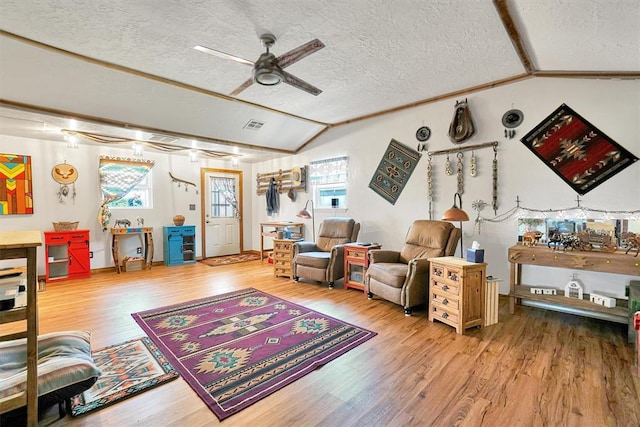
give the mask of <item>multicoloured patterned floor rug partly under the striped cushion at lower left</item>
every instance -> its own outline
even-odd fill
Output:
[[[147,337],[92,351],[91,356],[102,375],[93,387],[71,399],[72,417],[102,409],[179,376]]]

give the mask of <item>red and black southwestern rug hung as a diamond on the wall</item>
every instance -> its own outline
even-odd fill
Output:
[[[566,104],[520,141],[580,195],[638,160]]]

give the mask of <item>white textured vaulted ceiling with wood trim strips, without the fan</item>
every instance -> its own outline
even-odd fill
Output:
[[[264,33],[276,56],[324,43],[286,68],[320,95],[253,84],[230,96],[252,67],[194,49],[253,62]],[[8,135],[62,140],[73,117],[99,135],[141,130],[256,162],[335,126],[531,76],[640,78],[640,2],[0,0]]]

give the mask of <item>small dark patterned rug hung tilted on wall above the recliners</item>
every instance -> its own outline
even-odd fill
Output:
[[[395,205],[416,168],[420,156],[419,152],[392,139],[371,178],[369,188]]]

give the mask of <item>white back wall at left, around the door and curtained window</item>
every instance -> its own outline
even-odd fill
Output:
[[[100,206],[100,186],[98,178],[98,162],[101,155],[131,157],[130,146],[107,147],[80,144],[78,149],[69,149],[65,143],[19,138],[0,135],[0,152],[9,154],[30,155],[33,172],[33,215],[0,216],[0,230],[53,230],[52,222],[79,221],[79,228],[90,230],[90,250],[93,251],[91,268],[98,269],[113,266],[111,256],[111,234],[103,232],[98,224],[98,208]],[[199,163],[191,163],[184,154],[166,154],[148,149],[144,158],[155,162],[153,174],[153,209],[121,209],[112,210],[111,223],[116,219],[126,218],[136,224],[136,217],[144,219],[145,226],[154,227],[154,261],[163,259],[163,226],[173,225],[172,218],[176,214],[186,217],[185,224],[196,226],[197,256],[201,255],[201,202],[200,202],[200,168],[240,169],[244,179],[245,221],[251,223],[251,179],[250,166],[241,165],[232,168],[230,161],[200,159]],[[58,200],[59,184],[51,176],[51,169],[58,163],[67,162],[78,169],[78,180],[75,183],[76,198],[64,198],[64,204]],[[169,172],[174,176],[197,184],[198,194],[189,186],[178,187],[172,183]],[[189,210],[194,204],[195,210]],[[246,226],[247,228],[250,226]],[[244,247],[251,248],[251,234],[245,231]],[[131,240],[133,239],[133,240]],[[135,238],[122,242],[127,246],[140,246]],[[133,249],[135,251],[135,248]],[[44,275],[44,248],[38,250],[38,274]],[[2,265],[10,265],[11,261],[3,261]]]

